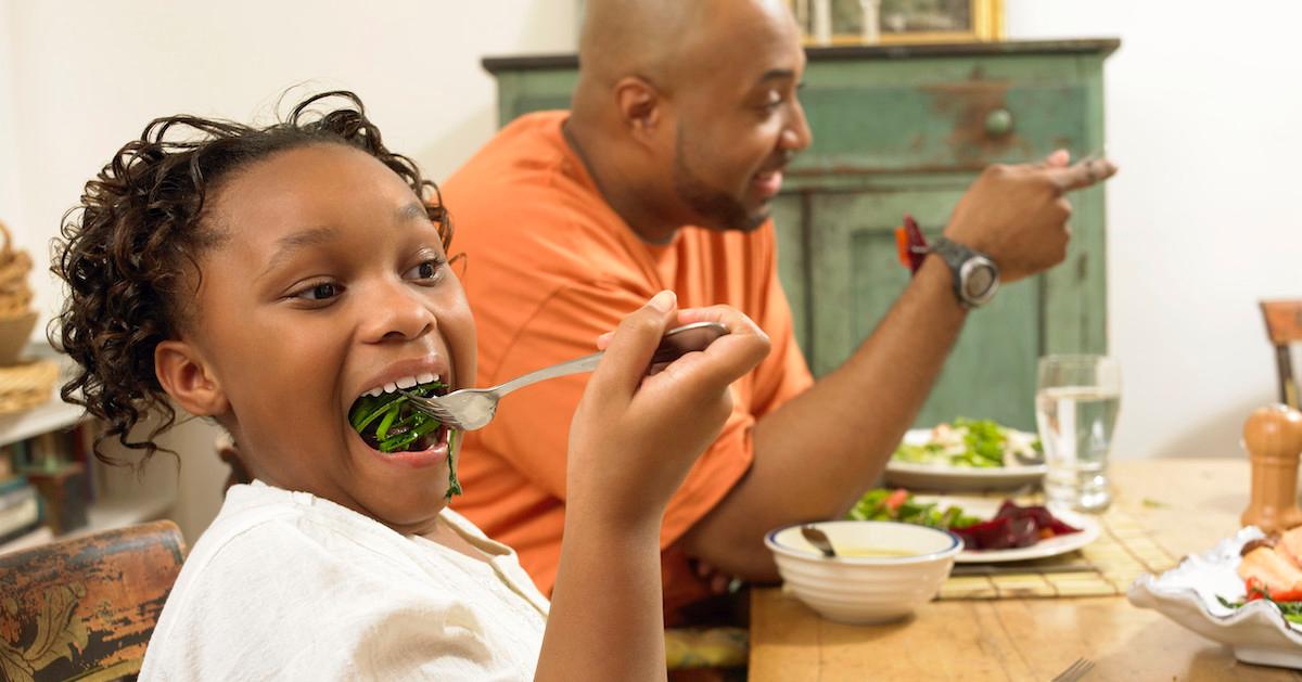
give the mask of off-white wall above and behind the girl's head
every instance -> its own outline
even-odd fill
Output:
[[[572,51],[574,12],[573,0],[0,0],[0,220],[42,262],[82,185],[148,120],[266,120],[305,82],[299,94],[357,91],[389,146],[443,178],[496,128],[480,57]],[[53,312],[43,269],[34,288]],[[191,541],[225,480],[214,433],[194,420],[168,443]],[[151,466],[172,471],[163,459]]]

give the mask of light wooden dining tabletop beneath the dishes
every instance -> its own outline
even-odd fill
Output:
[[[1242,459],[1143,459],[1112,466],[1116,500],[1173,556],[1234,532],[1247,506]],[[780,588],[751,593],[750,679],[1051,679],[1079,656],[1095,679],[1299,679],[1130,605],[1124,596],[954,600],[881,626],[820,618]]]

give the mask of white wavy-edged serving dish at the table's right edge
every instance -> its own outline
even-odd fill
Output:
[[[1216,599],[1243,599],[1238,551],[1260,538],[1254,526],[1240,530],[1210,552],[1191,554],[1161,575],[1135,579],[1126,597],[1135,607],[1155,609],[1199,635],[1234,649],[1234,657],[1259,665],[1302,668],[1302,631],[1284,620],[1273,604],[1250,601],[1237,609]]]

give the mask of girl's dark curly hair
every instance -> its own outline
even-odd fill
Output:
[[[337,107],[319,107],[336,99],[342,100]],[[180,138],[180,131],[189,135]],[[365,151],[397,173],[424,200],[444,247],[449,245],[452,221],[437,186],[384,146],[362,100],[348,91],[314,95],[266,128],[195,116],[155,118],[86,184],[53,245],[51,271],[68,284],[68,298],[48,336],[78,364],[60,396],[107,424],[95,440],[100,461],[124,463],[102,448],[112,437],[142,450],[142,465],[160,449],[171,452],[154,443],[177,419],[155,375],[154,350],[187,323],[202,281],[198,259],[223,238],[204,220],[210,197],[250,164],[323,143]],[[154,410],[161,422],[133,439],[134,427]]]

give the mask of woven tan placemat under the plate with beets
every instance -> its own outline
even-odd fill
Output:
[[[1143,525],[1120,509],[1099,517],[1099,539],[1075,552],[1016,565],[1025,573],[999,575],[952,575],[937,599],[1026,599],[1124,595],[1144,573],[1161,573],[1180,561],[1167,553]],[[1055,567],[1088,565],[1088,569],[1056,571]],[[999,570],[1013,567],[1000,566]],[[1046,570],[1049,569],[1049,570]]]

